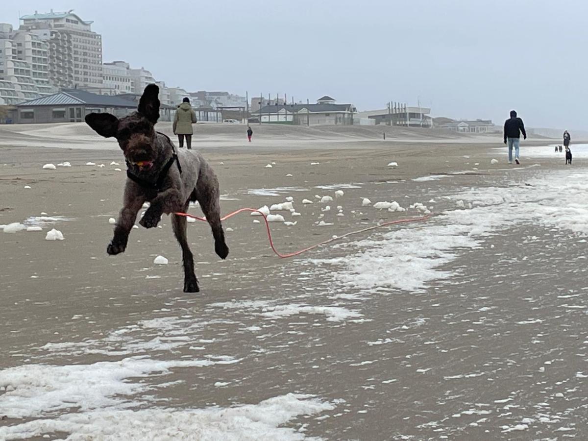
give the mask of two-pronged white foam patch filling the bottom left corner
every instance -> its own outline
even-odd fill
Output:
[[[335,409],[313,395],[288,393],[258,404],[204,409],[159,406],[142,394],[164,385],[146,377],[171,369],[206,368],[239,360],[155,360],[131,357],[88,365],[25,365],[0,372],[0,414],[27,421],[0,427],[0,439],[30,439],[65,432],[68,439],[240,440],[304,439],[281,427],[297,416]],[[135,380],[139,379],[139,380]],[[163,402],[165,403],[165,401]],[[165,405],[165,404],[164,404]],[[142,410],[138,410],[143,407]],[[71,410],[75,409],[75,412]]]

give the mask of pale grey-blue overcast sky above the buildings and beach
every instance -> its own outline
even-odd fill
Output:
[[[316,101],[387,101],[434,116],[588,129],[584,0],[215,0],[3,2],[0,21],[74,9],[103,60],[168,86]]]

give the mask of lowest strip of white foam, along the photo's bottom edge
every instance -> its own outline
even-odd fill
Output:
[[[0,435],[25,439],[46,432],[75,433],[75,439],[176,441],[305,439],[295,427],[281,427],[295,417],[315,415],[335,405],[312,395],[276,396],[256,405],[205,409],[103,410],[69,414],[0,428]],[[37,436],[38,436],[37,435]],[[316,440],[316,438],[313,438]]]

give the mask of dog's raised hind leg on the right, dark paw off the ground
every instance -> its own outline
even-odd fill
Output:
[[[200,208],[211,226],[212,235],[215,238],[215,252],[219,258],[226,259],[226,256],[229,255],[229,247],[226,246],[225,232],[220,222],[220,195],[216,176],[208,176],[208,179],[204,179],[204,176],[201,175],[196,184],[196,196]]]

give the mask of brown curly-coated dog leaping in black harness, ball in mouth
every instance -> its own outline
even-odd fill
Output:
[[[143,91],[136,112],[118,119],[110,113],[90,113],[86,123],[98,135],[116,138],[127,166],[123,207],[116,221],[114,236],[106,252],[109,255],[126,249],[129,233],[137,213],[151,203],[139,222],[154,228],[163,213],[172,215],[173,233],[182,248],[184,292],[198,292],[194,259],[186,236],[186,218],[175,212],[187,212],[190,202],[198,201],[212,228],[215,252],[221,259],[229,254],[220,222],[219,183],[211,166],[198,152],[176,149],[168,136],[155,131],[159,119],[159,87],[150,84]]]

